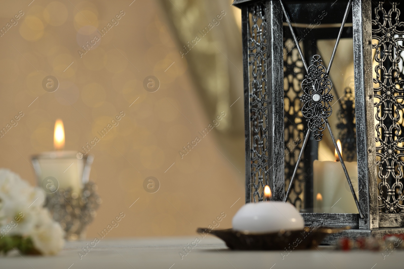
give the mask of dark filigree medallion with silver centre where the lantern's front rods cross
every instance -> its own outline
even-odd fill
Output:
[[[329,102],[334,100],[330,94],[332,83],[327,78],[326,68],[321,64],[320,55],[314,55],[312,65],[307,69],[306,78],[302,81],[304,94],[300,100],[305,102],[302,114],[307,119],[307,125],[313,131],[314,139],[321,141],[322,131],[326,128],[325,121],[332,113]]]

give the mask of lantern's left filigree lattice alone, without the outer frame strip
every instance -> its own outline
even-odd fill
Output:
[[[250,67],[250,131],[252,201],[262,201],[264,186],[269,184],[268,165],[268,94],[267,94],[267,36],[265,6],[255,4],[250,12],[248,63]]]

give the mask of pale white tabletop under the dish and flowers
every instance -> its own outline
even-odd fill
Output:
[[[293,250],[282,259],[281,251],[232,251],[223,241],[207,236],[183,257],[179,252],[194,237],[102,239],[80,260],[78,252],[92,240],[67,242],[57,256],[23,256],[17,252],[0,256],[1,269],[103,269],[103,268],[404,268],[403,250],[393,250],[388,256],[381,251],[337,251],[326,247],[318,250]],[[385,252],[384,254],[387,254]]]

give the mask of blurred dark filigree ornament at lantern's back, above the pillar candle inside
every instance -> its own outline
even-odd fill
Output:
[[[337,128],[341,141],[343,158],[351,162],[356,156],[356,122],[355,122],[355,95],[350,87],[345,88],[344,96],[340,99],[341,107],[338,111]]]

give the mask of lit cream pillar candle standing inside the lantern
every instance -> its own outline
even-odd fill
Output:
[[[340,140],[337,141],[337,146],[343,157]],[[317,194],[314,197],[314,213],[358,213],[337,150],[335,158],[335,161],[315,160],[313,163],[313,193]],[[357,193],[358,183],[353,179],[358,175],[358,163],[344,163]]]

